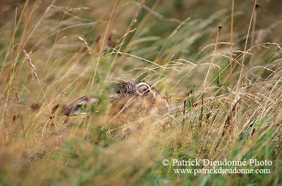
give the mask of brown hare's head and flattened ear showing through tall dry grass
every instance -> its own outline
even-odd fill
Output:
[[[171,102],[168,97],[144,81],[128,81],[118,84],[110,99],[114,100],[110,115],[123,122],[151,114],[164,114],[169,109]],[[96,101],[95,98],[83,96],[63,108],[62,112],[67,116],[78,115],[83,107]]]

